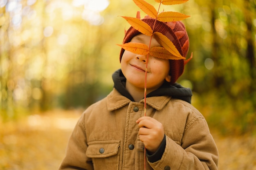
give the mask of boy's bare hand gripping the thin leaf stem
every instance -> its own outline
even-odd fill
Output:
[[[154,153],[159,148],[164,139],[163,125],[152,117],[140,117],[137,121],[139,124],[139,139],[144,143],[144,146],[151,153]]]

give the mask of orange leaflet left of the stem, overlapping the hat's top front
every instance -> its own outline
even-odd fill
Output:
[[[153,33],[153,30],[151,29],[151,27],[146,23],[143,22],[142,20],[140,20],[139,18],[133,18],[133,17],[124,17],[122,16],[124,19],[126,19],[129,24],[135,28],[136,30],[138,30],[139,32],[151,36]]]

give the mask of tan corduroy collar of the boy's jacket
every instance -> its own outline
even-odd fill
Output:
[[[161,110],[167,104],[167,102],[171,99],[170,96],[158,96],[158,97],[147,97],[146,104],[155,108],[156,110]],[[127,97],[121,95],[115,88],[110,94],[107,96],[107,107],[108,111],[113,111],[119,109],[123,106],[126,106],[132,102]],[[144,104],[144,99],[141,99],[139,103]]]

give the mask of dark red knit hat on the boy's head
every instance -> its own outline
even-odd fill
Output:
[[[153,18],[144,18],[142,21],[146,22],[152,29],[155,23]],[[186,57],[189,49],[189,36],[186,32],[185,26],[182,22],[160,22],[156,21],[154,32],[160,32],[164,34],[169,40],[173,42],[176,49],[180,52],[183,57]],[[134,29],[132,26],[126,31],[123,43],[128,43],[136,35],[141,34],[139,31]],[[120,52],[120,62],[124,53],[124,49]],[[170,73],[171,82],[174,84],[176,80],[182,75],[184,71],[184,60],[169,60],[170,61]]]

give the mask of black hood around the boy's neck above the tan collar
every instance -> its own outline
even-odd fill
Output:
[[[124,74],[122,73],[121,69],[113,73],[112,79],[114,81],[114,88],[117,89],[117,91],[121,93],[121,95],[124,95],[125,97],[134,102],[134,99],[125,88],[126,78],[124,77]],[[170,85],[168,84],[168,82],[164,82],[164,84],[161,87],[159,87],[151,93],[148,93],[147,97],[166,95],[191,103],[192,91],[190,88],[184,88],[178,83]]]

